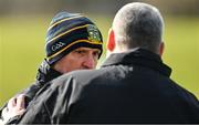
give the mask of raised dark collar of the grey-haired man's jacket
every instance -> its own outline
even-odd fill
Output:
[[[140,65],[158,71],[159,73],[170,76],[171,69],[163,63],[160,56],[145,49],[130,50],[125,53],[114,53],[102,65]]]

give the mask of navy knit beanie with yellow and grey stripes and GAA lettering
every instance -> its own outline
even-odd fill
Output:
[[[50,65],[77,48],[100,49],[101,54],[103,52],[101,31],[80,13],[57,13],[50,23],[45,41],[46,60]]]

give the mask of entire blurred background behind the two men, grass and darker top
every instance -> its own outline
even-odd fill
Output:
[[[0,0],[0,106],[34,81],[56,12],[85,13],[106,41],[117,10],[134,1],[160,10],[166,23],[164,62],[172,67],[171,77],[199,97],[199,0]]]

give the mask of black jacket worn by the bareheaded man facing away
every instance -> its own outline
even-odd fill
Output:
[[[21,123],[199,123],[198,100],[170,72],[143,49],[113,54],[100,70],[49,83]]]

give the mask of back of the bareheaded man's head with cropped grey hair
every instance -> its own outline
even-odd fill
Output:
[[[113,30],[118,48],[143,48],[159,51],[164,29],[163,17],[155,7],[133,2],[124,6],[115,15]]]

